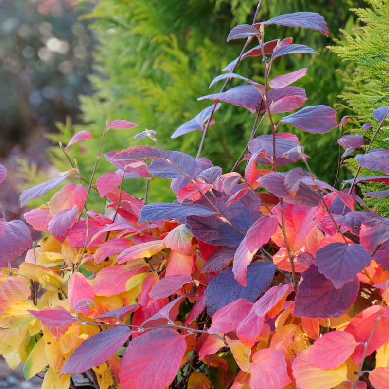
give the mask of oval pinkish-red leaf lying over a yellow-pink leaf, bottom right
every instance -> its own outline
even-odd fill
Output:
[[[312,346],[308,347],[307,359],[316,368],[336,369],[353,354],[358,343],[346,331],[333,331],[323,334]]]

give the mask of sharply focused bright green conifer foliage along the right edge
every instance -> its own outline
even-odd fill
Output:
[[[354,30],[353,37],[345,31],[344,41],[336,40],[337,46],[330,47],[343,60],[352,60],[356,64],[353,75],[342,72],[344,80],[349,85],[341,97],[354,111],[350,118],[352,124],[350,132],[359,135],[369,143],[373,138],[372,132],[367,132],[365,123],[373,123],[373,109],[388,104],[387,77],[388,70],[388,43],[389,43],[389,3],[382,0],[369,0],[371,9],[353,9],[359,19],[365,23],[363,27]],[[346,85],[347,85],[346,84]],[[365,124],[365,125],[364,125]],[[384,125],[371,143],[371,149],[387,150],[389,148],[389,127]],[[357,145],[364,147],[363,144]],[[365,146],[366,147],[366,146]],[[356,148],[348,150],[342,157],[352,155],[355,157]],[[379,151],[377,150],[377,153]],[[347,160],[351,170],[358,169],[359,160],[350,158]],[[377,172],[376,169],[367,169],[361,165],[362,176],[387,174],[386,169]],[[389,216],[389,192],[384,190],[381,184],[364,185],[362,190],[366,197],[366,203],[379,215]]]

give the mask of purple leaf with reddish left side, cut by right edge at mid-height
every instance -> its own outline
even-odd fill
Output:
[[[359,240],[364,248],[374,249],[389,238],[389,219],[376,217],[361,224]]]

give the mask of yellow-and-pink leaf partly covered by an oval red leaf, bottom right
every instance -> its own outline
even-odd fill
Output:
[[[306,358],[308,349],[303,350],[292,363],[296,385],[301,389],[331,389],[347,381],[345,363],[334,370],[315,368]]]

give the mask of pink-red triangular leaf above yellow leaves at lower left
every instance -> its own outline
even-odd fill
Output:
[[[77,323],[76,318],[63,309],[46,309],[44,311],[30,311],[35,318],[40,320],[42,326],[50,331],[55,340],[65,334],[72,323]]]

